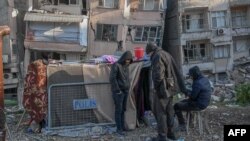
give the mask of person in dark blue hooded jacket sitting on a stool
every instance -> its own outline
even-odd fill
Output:
[[[174,105],[181,131],[186,130],[182,111],[199,111],[207,108],[212,93],[209,80],[202,75],[198,66],[190,68],[188,75],[193,79],[192,91],[187,93],[188,99],[184,99]]]

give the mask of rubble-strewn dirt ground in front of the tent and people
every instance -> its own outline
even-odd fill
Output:
[[[210,106],[206,110],[208,114],[208,126],[211,131],[207,131],[204,135],[199,135],[198,126],[191,128],[189,134],[186,132],[178,132],[177,135],[184,138],[185,141],[223,141],[223,125],[250,125],[250,107],[239,106]],[[10,135],[7,134],[8,141],[149,141],[150,137],[156,136],[156,130],[145,125],[136,128],[133,131],[126,132],[124,138],[114,134],[97,136],[97,137],[62,137],[62,136],[46,136],[43,133],[30,133],[28,126],[21,124],[17,129],[18,122],[22,113],[8,113],[7,123]]]

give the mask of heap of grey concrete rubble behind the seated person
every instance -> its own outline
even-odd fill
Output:
[[[234,103],[236,101],[235,88],[239,84],[250,83],[250,57],[242,57],[235,61],[232,71],[217,74],[205,74],[210,80],[213,90],[211,102]],[[192,90],[192,81],[185,80],[186,88]]]

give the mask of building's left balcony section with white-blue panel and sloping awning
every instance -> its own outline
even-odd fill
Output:
[[[82,60],[87,51],[87,0],[29,0],[24,67],[46,52],[57,60]],[[25,69],[26,70],[26,69]]]

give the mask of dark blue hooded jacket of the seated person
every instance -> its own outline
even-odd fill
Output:
[[[192,92],[189,97],[198,104],[199,108],[205,109],[211,99],[212,88],[210,82],[202,75],[197,66],[189,70],[189,75],[193,77]]]

